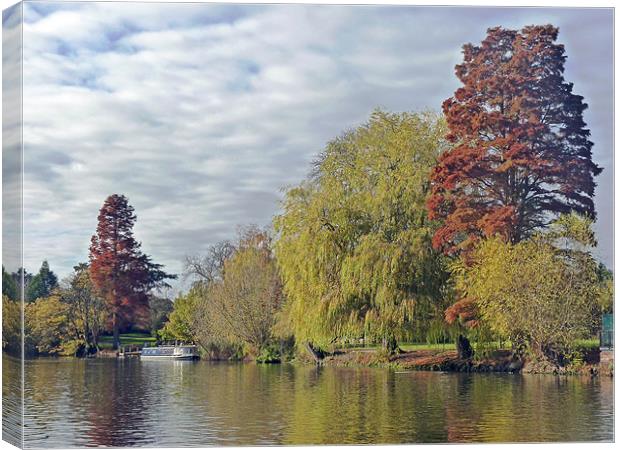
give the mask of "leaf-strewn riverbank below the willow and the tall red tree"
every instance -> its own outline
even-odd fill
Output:
[[[384,367],[403,371],[546,373],[557,375],[613,376],[613,358],[600,362],[599,352],[584,355],[583,362],[567,367],[532,360],[517,360],[509,350],[486,358],[459,358],[455,350],[404,350],[387,357],[374,349],[346,349],[325,356],[320,364],[333,367]],[[302,358],[304,362],[314,362]]]

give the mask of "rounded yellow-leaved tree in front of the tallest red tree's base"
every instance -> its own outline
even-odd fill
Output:
[[[597,263],[583,233],[590,224],[571,215],[527,241],[483,241],[470,261],[455,263],[457,288],[475,299],[493,333],[561,360],[600,315]]]

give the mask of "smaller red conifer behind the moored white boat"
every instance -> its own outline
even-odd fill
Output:
[[[168,286],[162,265],[140,250],[133,236],[134,209],[124,195],[111,195],[99,210],[97,232],[91,238],[90,276],[110,311],[113,348],[120,344],[121,326],[135,323],[148,312],[148,294]]]

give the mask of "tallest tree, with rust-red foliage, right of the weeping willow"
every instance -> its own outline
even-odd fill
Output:
[[[559,214],[595,217],[601,168],[557,36],[551,25],[496,27],[463,47],[463,86],[443,103],[453,147],[431,174],[436,248],[456,254],[495,235],[517,243]]]

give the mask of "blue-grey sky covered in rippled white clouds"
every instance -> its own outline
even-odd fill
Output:
[[[143,249],[185,255],[266,225],[281,189],[376,107],[439,110],[461,46],[552,23],[584,95],[599,257],[612,264],[612,10],[26,3],[25,265],[66,275],[112,193]]]

